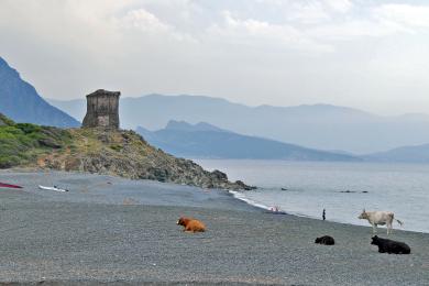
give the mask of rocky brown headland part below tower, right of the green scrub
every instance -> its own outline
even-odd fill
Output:
[[[43,168],[118,175],[204,188],[249,189],[226,174],[207,172],[190,160],[177,158],[148,145],[133,131],[70,130],[73,144],[40,157]]]

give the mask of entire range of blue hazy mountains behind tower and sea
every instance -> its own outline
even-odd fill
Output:
[[[0,113],[16,122],[80,125],[85,98],[47,101],[0,57]],[[122,128],[138,128],[151,143],[182,156],[429,162],[427,114],[380,117],[330,105],[249,107],[186,95],[122,98],[120,113]]]

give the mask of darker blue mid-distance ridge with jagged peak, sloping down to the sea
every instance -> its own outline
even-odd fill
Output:
[[[198,158],[264,158],[290,161],[359,161],[273,140],[240,135],[208,123],[170,121],[158,131],[136,130],[152,145],[176,156]]]

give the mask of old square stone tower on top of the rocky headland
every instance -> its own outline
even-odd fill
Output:
[[[84,128],[119,129],[119,91],[99,89],[87,96]]]

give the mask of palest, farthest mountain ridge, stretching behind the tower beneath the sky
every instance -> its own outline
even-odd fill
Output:
[[[84,99],[51,103],[77,119],[85,116]],[[169,120],[209,122],[240,134],[359,154],[429,142],[426,114],[380,117],[328,105],[248,107],[210,97],[150,95],[122,98],[120,113],[121,125],[129,129],[158,130]]]

